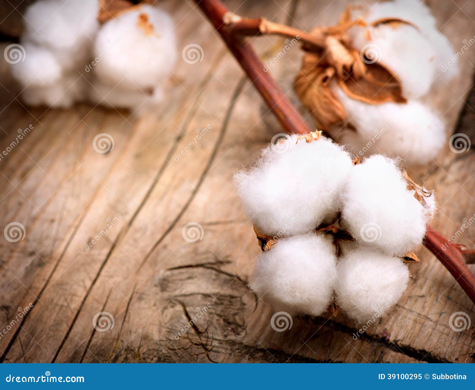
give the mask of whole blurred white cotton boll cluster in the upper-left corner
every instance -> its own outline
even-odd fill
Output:
[[[26,56],[12,64],[29,105],[90,101],[143,114],[160,104],[177,59],[174,23],[136,5],[98,21],[97,0],[39,0],[25,13]]]

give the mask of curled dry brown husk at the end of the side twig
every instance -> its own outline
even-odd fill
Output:
[[[371,25],[381,23],[396,29],[407,22],[391,18],[380,19]],[[295,91],[322,130],[343,124],[346,117],[345,109],[334,96],[332,87],[342,88],[348,97],[363,103],[407,102],[402,95],[399,78],[389,68],[377,62],[368,63],[371,61],[366,60],[365,53],[350,47],[344,36],[355,25],[366,26],[361,19],[351,20],[351,9],[347,9],[336,26],[311,31],[316,36],[325,36],[323,48],[304,46],[304,49],[311,51],[304,54],[302,68],[295,79]]]

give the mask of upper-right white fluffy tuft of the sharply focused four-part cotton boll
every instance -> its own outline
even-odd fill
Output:
[[[393,160],[378,155],[365,159],[348,179],[342,225],[358,243],[385,254],[413,250],[422,243],[428,219],[407,185]]]

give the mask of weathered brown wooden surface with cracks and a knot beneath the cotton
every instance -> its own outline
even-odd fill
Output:
[[[242,15],[310,29],[334,18],[345,2],[227,5]],[[457,50],[472,38],[473,2],[430,5]],[[0,161],[0,227],[19,222],[26,230],[16,243],[0,240],[0,330],[15,319],[17,308],[34,306],[2,334],[0,359],[474,362],[473,303],[425,249],[418,252],[421,263],[410,266],[413,279],[397,307],[356,340],[357,328],[342,315],[297,317],[285,332],[271,328],[273,309],[246,286],[259,247],[231,177],[282,130],[194,3],[164,2],[164,7],[177,21],[180,51],[195,43],[204,56],[195,64],[178,61],[158,118],[137,121],[126,111],[88,105],[23,107],[2,81],[10,103],[0,113],[0,149],[10,145],[17,129],[30,124],[34,129]],[[283,40],[252,43],[268,60]],[[300,56],[295,45],[270,70],[293,101]],[[455,131],[473,142],[475,95],[464,100],[473,84],[475,50],[466,50],[458,64],[463,77],[434,91],[433,98],[447,111],[449,132],[458,123]],[[207,126],[188,150],[196,129]],[[114,149],[105,154],[93,148],[100,133],[114,138]],[[186,154],[175,158],[185,148]],[[447,143],[432,167],[416,173],[437,191],[441,210],[434,226],[447,236],[475,213],[474,172],[473,149],[455,154]],[[86,250],[115,217],[117,223]],[[193,243],[182,236],[190,222],[204,230]],[[475,227],[463,230],[456,242],[475,246]],[[209,310],[176,340],[204,307]],[[114,327],[95,330],[99,312],[111,313]],[[449,326],[454,312],[466,312],[471,327],[454,332]]]

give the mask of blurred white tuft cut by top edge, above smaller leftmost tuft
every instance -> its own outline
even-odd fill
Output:
[[[25,38],[74,53],[99,29],[97,0],[40,0],[25,12]]]

